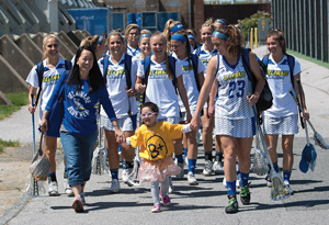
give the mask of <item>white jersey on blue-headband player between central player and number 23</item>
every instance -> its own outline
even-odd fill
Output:
[[[184,87],[186,90],[190,110],[192,112],[192,111],[195,111],[195,109],[196,109],[196,103],[197,103],[197,99],[198,99],[198,94],[200,94],[198,90],[197,90],[195,77],[194,77],[192,59],[190,59],[190,66],[189,66],[188,57],[184,58],[183,60],[180,60],[179,58],[177,58],[177,60],[182,65]],[[200,74],[204,70],[205,70],[205,67],[202,64],[202,60],[198,58],[197,74]],[[178,99],[179,99],[179,104],[180,104],[181,111],[186,112],[186,109],[183,104],[181,97],[179,95]]]

